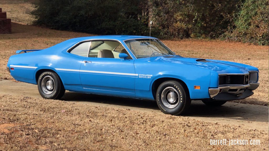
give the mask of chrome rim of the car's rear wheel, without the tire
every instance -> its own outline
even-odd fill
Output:
[[[55,90],[55,82],[53,78],[49,75],[45,76],[41,81],[41,88],[45,94],[52,94]]]

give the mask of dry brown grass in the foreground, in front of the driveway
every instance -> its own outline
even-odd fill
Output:
[[[10,95],[0,95],[0,107],[0,150],[268,150],[268,132],[187,117]]]

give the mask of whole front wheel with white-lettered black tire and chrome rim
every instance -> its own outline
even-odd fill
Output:
[[[191,100],[178,81],[165,81],[156,91],[156,102],[163,113],[180,115],[189,109]]]

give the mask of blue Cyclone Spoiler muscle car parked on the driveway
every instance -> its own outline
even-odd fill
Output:
[[[60,99],[65,90],[150,99],[162,112],[178,115],[191,100],[218,106],[245,99],[259,87],[256,67],[185,58],[154,37],[82,37],[16,53],[7,70],[18,81],[37,84],[47,99]]]

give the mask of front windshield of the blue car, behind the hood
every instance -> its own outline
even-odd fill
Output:
[[[125,41],[125,44],[136,58],[175,55],[158,39],[133,39]]]

